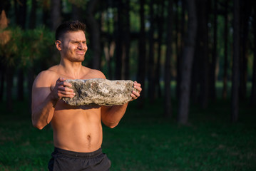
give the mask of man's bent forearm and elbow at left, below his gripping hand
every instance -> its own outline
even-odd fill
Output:
[[[53,118],[57,100],[51,100],[50,95],[38,106],[32,107],[32,123],[34,127],[43,129]]]

